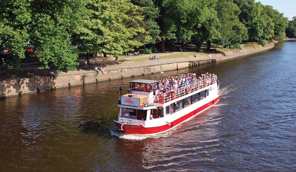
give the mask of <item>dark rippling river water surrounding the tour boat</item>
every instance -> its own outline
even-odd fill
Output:
[[[124,135],[117,90],[134,79],[0,100],[1,171],[295,171],[296,42],[196,68],[221,83],[219,102],[160,135]]]

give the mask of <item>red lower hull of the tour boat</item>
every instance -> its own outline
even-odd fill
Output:
[[[118,121],[115,121],[115,123],[120,130],[122,130],[124,133],[127,133],[127,134],[160,134],[177,127],[184,121],[194,117],[201,111],[204,111],[205,109],[211,107],[212,105],[216,104],[219,99],[220,99],[220,94],[218,94],[218,97],[216,97],[214,100],[211,100],[208,103],[200,107],[197,107],[194,111],[184,114],[182,117],[170,123],[167,123],[165,125],[160,125],[155,127],[144,127],[142,124],[124,124]]]

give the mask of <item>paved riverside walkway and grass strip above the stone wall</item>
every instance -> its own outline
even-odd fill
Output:
[[[157,53],[159,56],[159,60],[149,60],[150,54],[141,54],[139,56],[127,56],[124,57],[121,60],[115,61],[115,58],[112,56],[109,56],[107,58],[103,57],[91,57],[90,58],[90,64],[88,65],[88,68],[84,69],[84,57],[78,58],[77,61],[79,62],[79,66],[77,66],[77,70],[75,71],[63,71],[58,73],[59,76],[62,75],[71,75],[71,74],[82,74],[86,71],[94,71],[95,66],[103,66],[105,68],[105,71],[108,70],[115,70],[120,68],[132,68],[132,67],[139,67],[139,66],[151,66],[151,65],[159,65],[159,64],[167,64],[167,63],[173,63],[173,62],[184,62],[184,61],[197,61],[197,60],[207,60],[207,59],[223,59],[223,58],[230,58],[234,56],[238,56],[241,54],[246,53],[252,53],[254,51],[258,50],[265,50],[272,48],[275,42],[267,44],[265,47],[251,47],[249,49],[245,50],[234,50],[230,52],[214,52],[209,54],[201,54],[191,51],[185,51],[185,52],[167,52],[167,53]],[[198,55],[197,58],[193,57],[193,54],[196,53]],[[162,56],[166,55],[178,55],[182,56],[182,58],[170,58],[170,59],[162,59]],[[152,54],[154,55],[154,54]],[[136,58],[147,58],[145,61],[131,61]],[[127,61],[125,61],[127,60]],[[47,74],[48,69],[38,69],[40,66],[39,62],[30,62],[30,63],[22,63],[21,67],[19,69],[12,69],[7,68],[6,66],[0,66],[0,81],[3,80],[9,80],[9,79],[23,79],[23,78],[31,78],[31,77],[38,77],[38,76],[44,76]],[[50,69],[55,71],[54,65],[49,64]]]

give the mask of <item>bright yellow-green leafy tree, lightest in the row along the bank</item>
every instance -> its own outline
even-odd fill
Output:
[[[88,0],[86,7],[84,26],[73,34],[81,51],[110,53],[118,61],[118,54],[151,40],[141,26],[138,6],[124,0]]]

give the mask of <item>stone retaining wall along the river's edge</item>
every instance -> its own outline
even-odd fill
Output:
[[[246,53],[239,53],[235,55],[232,52],[226,52],[226,57],[219,57],[215,54],[212,56],[212,62],[226,60],[229,58],[240,57],[248,54],[254,54],[259,51],[265,51],[273,48],[271,47],[263,47],[258,50]],[[137,75],[143,74],[152,74],[160,71],[170,71],[170,70],[178,70],[180,68],[188,68],[189,66],[195,66],[195,64],[207,64],[207,60],[198,60],[198,61],[184,61],[184,62],[173,62],[161,65],[153,65],[153,66],[141,66],[141,67],[131,67],[131,68],[121,68],[110,71],[105,71],[105,74],[102,75],[100,72],[97,74],[94,71],[84,72],[82,74],[76,75],[63,75],[58,76],[56,79],[52,80],[48,76],[41,76],[36,78],[29,79],[12,79],[7,81],[0,81],[0,98],[21,95],[25,93],[31,92],[39,92],[39,91],[47,91],[53,90],[59,87],[68,87],[75,85],[82,85],[84,83],[94,83],[98,81],[111,80],[111,79],[119,79],[126,77],[134,77]],[[85,77],[88,75],[87,77]]]

